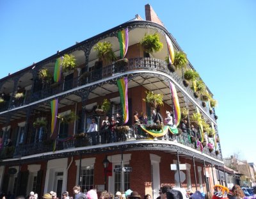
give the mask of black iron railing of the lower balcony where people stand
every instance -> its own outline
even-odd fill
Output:
[[[120,143],[125,142],[129,144],[129,141],[134,140],[147,140],[147,141],[157,141],[161,140],[166,142],[166,144],[172,145],[172,143],[180,143],[190,148],[194,148],[200,152],[200,147],[196,147],[195,143],[191,143],[189,139],[189,134],[181,132],[179,135],[170,136],[171,138],[164,139],[155,138],[153,139],[150,135],[142,132],[140,129],[140,125],[134,125],[126,129],[126,131],[110,131],[102,130],[98,132],[87,132],[81,134],[75,134],[75,136],[69,136],[65,139],[56,139],[56,145],[54,144],[54,140],[46,139],[39,143],[31,143],[31,144],[22,144],[17,147],[4,147],[1,152],[0,159],[9,159],[15,157],[24,157],[27,155],[35,155],[42,154],[45,152],[52,152],[54,150],[61,151],[68,148],[76,148],[76,147],[90,147],[90,146],[104,146],[107,143]],[[216,155],[214,152],[209,152],[207,147],[204,147],[203,154],[207,154],[215,159],[222,160],[222,155]]]

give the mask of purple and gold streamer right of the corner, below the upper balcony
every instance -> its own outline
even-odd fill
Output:
[[[172,93],[174,122],[175,122],[175,125],[178,126],[181,118],[179,98],[178,98],[177,91],[174,84],[171,81],[169,83],[170,83],[170,90]]]

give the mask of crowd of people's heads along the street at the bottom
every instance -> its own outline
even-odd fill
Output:
[[[225,186],[215,185],[213,194],[211,192],[201,193],[200,191],[195,191],[192,193],[191,189],[186,189],[186,192],[183,192],[182,188],[173,188],[171,186],[163,186],[159,189],[159,196],[157,199],[253,199],[256,198],[256,195],[251,196],[250,198],[246,198],[244,196],[243,190],[239,185],[235,185],[232,189],[228,189]],[[147,194],[143,197],[138,193],[138,191],[132,191],[128,189],[124,193],[120,191],[116,191],[115,195],[109,193],[108,191],[102,191],[100,195],[98,195],[96,189],[90,189],[90,191],[84,190],[81,192],[80,186],[73,187],[74,199],[152,199],[152,196]],[[73,196],[68,195],[68,191],[65,191],[61,194],[61,198],[59,198],[54,191],[50,191],[49,193],[45,193],[42,196],[43,199],[73,199]],[[29,196],[17,196],[16,198],[11,193],[8,195],[4,195],[2,193],[0,195],[0,199],[38,199],[38,195],[33,191],[30,192]]]

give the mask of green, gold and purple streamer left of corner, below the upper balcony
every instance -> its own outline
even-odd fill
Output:
[[[124,115],[124,124],[128,122],[129,111],[128,111],[128,79],[124,77],[117,80],[117,86],[120,93],[121,109]]]

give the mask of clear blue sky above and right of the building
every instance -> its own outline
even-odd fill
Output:
[[[214,98],[223,156],[256,163],[256,1],[0,0],[0,78],[139,14],[159,18]]]

